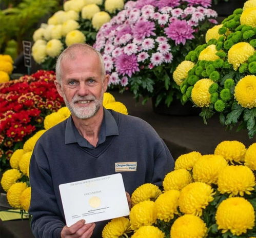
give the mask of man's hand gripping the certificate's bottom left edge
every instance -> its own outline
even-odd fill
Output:
[[[95,223],[85,224],[85,220],[80,220],[70,227],[63,227],[62,238],[90,238],[95,227]]]

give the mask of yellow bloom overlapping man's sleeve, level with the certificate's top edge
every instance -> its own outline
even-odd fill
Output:
[[[186,169],[177,169],[165,175],[163,187],[165,191],[181,190],[192,183],[192,176]]]

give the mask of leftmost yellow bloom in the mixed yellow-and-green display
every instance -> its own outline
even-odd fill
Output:
[[[173,80],[179,86],[188,76],[188,71],[194,67],[194,63],[191,61],[183,61],[173,72]]]

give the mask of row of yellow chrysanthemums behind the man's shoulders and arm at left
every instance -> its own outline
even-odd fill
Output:
[[[123,114],[128,114],[127,108],[121,102],[116,102],[113,95],[104,93],[103,105]],[[37,131],[10,156],[11,169],[3,173],[1,185],[7,192],[7,201],[13,208],[28,211],[30,206],[31,188],[29,186],[29,164],[34,146],[48,129],[66,120],[70,116],[67,107],[62,107],[44,118],[42,130]]]

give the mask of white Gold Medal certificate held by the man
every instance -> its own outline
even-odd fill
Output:
[[[59,186],[67,226],[84,219],[99,222],[129,215],[121,173]]]

